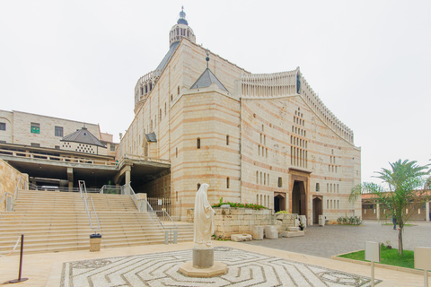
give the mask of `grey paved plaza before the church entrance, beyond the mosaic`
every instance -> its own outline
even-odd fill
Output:
[[[416,226],[404,228],[404,249],[431,248],[431,222],[410,223]],[[398,230],[393,230],[393,225],[382,225],[382,222],[365,221],[360,226],[313,225],[305,230],[304,237],[253,240],[247,244],[327,258],[364,249],[365,241],[385,243],[390,240],[392,248],[398,248]]]

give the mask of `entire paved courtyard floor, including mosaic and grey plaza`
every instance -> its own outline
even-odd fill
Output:
[[[405,247],[431,247],[431,224],[407,227]],[[390,225],[307,227],[303,238],[247,243],[213,241],[216,260],[228,273],[209,279],[187,278],[178,266],[191,260],[193,242],[24,255],[17,286],[371,286],[370,267],[329,257],[364,247],[365,240],[394,242]],[[394,243],[392,245],[395,246]],[[19,256],[0,258],[0,283],[16,279]],[[423,286],[423,276],[375,269],[377,286]]]

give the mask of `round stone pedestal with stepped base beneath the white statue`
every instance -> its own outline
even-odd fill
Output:
[[[214,261],[214,248],[193,248],[193,262],[186,262],[178,269],[189,277],[214,277],[227,272],[227,265]]]

